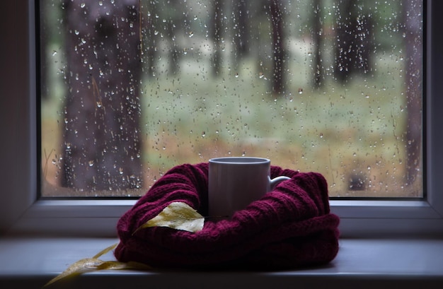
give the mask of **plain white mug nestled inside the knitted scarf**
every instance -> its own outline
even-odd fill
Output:
[[[226,157],[209,160],[209,216],[231,217],[290,177],[270,178],[267,158]]]

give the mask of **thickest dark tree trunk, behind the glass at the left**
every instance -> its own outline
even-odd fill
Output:
[[[67,84],[62,185],[142,185],[139,0],[64,1]]]

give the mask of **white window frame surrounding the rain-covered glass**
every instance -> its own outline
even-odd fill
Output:
[[[438,7],[437,7],[438,6]],[[330,201],[342,237],[443,235],[443,55],[439,33],[443,2],[427,1],[425,85],[426,201]],[[116,236],[116,223],[134,200],[38,200],[35,110],[35,1],[1,1],[0,233]],[[23,16],[28,13],[28,19]],[[4,65],[6,64],[6,65]],[[9,95],[9,97],[6,97]]]

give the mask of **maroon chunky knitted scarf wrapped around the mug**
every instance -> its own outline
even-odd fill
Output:
[[[207,216],[208,163],[179,165],[159,179],[117,223],[119,261],[154,267],[291,269],[327,264],[338,253],[338,216],[330,213],[326,179],[271,167],[291,177],[229,220],[207,218],[203,230],[137,230],[174,201]],[[134,233],[135,232],[135,233]]]

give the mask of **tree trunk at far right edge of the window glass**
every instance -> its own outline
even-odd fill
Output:
[[[406,175],[407,183],[413,184],[418,175],[421,161],[422,140],[422,71],[423,71],[423,6],[420,0],[403,1],[403,23],[405,23],[406,47],[406,100],[408,123],[406,124]]]

